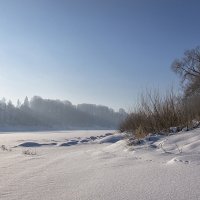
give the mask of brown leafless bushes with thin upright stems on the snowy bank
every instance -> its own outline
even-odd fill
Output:
[[[190,127],[194,119],[200,120],[200,96],[183,99],[173,89],[164,95],[147,91],[120,130],[141,138],[149,133],[169,133],[170,127]]]

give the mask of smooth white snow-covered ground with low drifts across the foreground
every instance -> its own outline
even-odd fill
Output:
[[[200,199],[200,129],[134,147],[111,133],[0,134],[0,199]]]

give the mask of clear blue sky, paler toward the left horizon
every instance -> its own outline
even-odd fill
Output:
[[[177,84],[200,44],[198,0],[0,0],[0,92],[128,109]]]

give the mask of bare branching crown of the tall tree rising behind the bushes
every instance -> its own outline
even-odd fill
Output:
[[[187,50],[172,63],[172,70],[181,77],[186,96],[200,94],[200,46]]]

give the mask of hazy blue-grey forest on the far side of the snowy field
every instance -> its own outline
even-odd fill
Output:
[[[127,116],[124,109],[95,104],[73,105],[70,101],[43,99],[19,100],[17,105],[0,100],[0,130],[9,129],[116,129]]]

